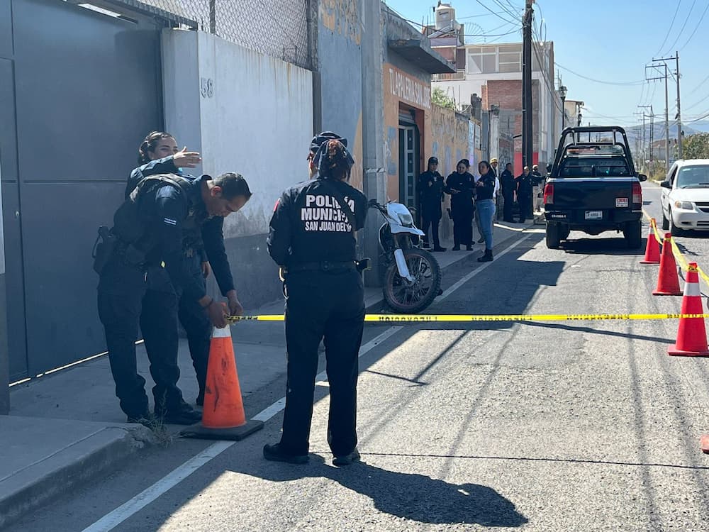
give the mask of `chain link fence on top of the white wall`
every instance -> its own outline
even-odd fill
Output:
[[[141,0],[167,13],[195,21],[199,30],[311,68],[309,47],[314,0]]]

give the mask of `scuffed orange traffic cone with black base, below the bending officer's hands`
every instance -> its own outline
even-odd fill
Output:
[[[202,422],[180,434],[205,440],[242,440],[263,428],[263,421],[246,421],[229,327],[214,328],[209,345]]]

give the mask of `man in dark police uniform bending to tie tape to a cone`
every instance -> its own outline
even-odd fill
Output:
[[[206,226],[205,222],[212,216],[238,211],[250,196],[248,184],[239,174],[222,174],[216,179],[160,174],[140,181],[116,211],[112,233],[117,241],[99,272],[98,304],[116,396],[128,422],[155,425],[145,379],[136,367],[139,325],[155,381],[155,415],[178,424],[201,418],[184,402],[177,387],[176,289],[197,301],[213,326],[223,327],[227,322],[223,307],[191,275],[183,238],[190,226],[203,229],[207,252],[218,256],[219,242],[223,250],[220,226]],[[234,301],[230,301],[230,310],[239,310]]]

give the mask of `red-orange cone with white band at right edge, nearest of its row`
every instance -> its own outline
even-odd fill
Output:
[[[704,314],[696,262],[689,263],[681,313]],[[667,353],[685,357],[709,357],[704,318],[679,318],[677,343],[670,345],[667,348]]]

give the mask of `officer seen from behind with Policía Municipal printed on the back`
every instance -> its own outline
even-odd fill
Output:
[[[348,465],[359,460],[355,421],[364,287],[355,231],[364,226],[367,198],[347,184],[354,164],[347,140],[321,133],[311,148],[311,176],[317,170],[318,177],[284,192],[267,240],[271,257],[284,269],[288,383],[281,440],[265,445],[263,453],[267,460],[308,461],[318,345],[324,338],[328,443],[333,464]]]

